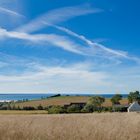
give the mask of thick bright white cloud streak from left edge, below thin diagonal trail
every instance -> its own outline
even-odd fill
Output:
[[[57,46],[63,50],[80,54],[80,55],[87,55],[82,52],[79,48],[80,45],[76,44],[74,41],[70,40],[65,36],[60,36],[56,34],[37,34],[31,35],[27,33],[21,32],[9,32],[5,29],[0,29],[0,38],[16,38],[21,40],[31,41],[33,43],[40,43],[40,42],[48,42],[53,46]]]

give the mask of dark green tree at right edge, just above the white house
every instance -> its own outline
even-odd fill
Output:
[[[128,101],[129,101],[129,103],[132,103],[134,101],[140,102],[140,93],[139,93],[139,91],[130,92],[129,95],[128,95]]]

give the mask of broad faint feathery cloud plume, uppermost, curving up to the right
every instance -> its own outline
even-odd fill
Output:
[[[71,7],[63,7],[51,10],[45,14],[42,14],[38,18],[32,20],[30,23],[19,27],[16,31],[19,32],[34,32],[46,27],[44,21],[51,24],[67,21],[77,16],[87,15],[91,13],[102,12],[102,9],[92,8],[90,5],[79,5]]]

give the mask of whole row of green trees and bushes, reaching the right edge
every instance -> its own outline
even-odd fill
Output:
[[[52,106],[48,108],[48,113],[92,113],[92,112],[126,112],[127,107],[125,106],[115,106],[120,105],[120,101],[123,96],[121,94],[115,94],[110,100],[112,102],[112,107],[104,107],[102,104],[105,102],[105,98],[101,96],[90,97],[88,102],[84,107],[78,105],[72,105],[68,108],[60,106]],[[140,93],[139,91],[130,92],[128,95],[128,103],[134,101],[140,102]]]

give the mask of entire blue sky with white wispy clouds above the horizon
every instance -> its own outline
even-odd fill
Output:
[[[0,0],[0,92],[140,90],[139,5]]]

